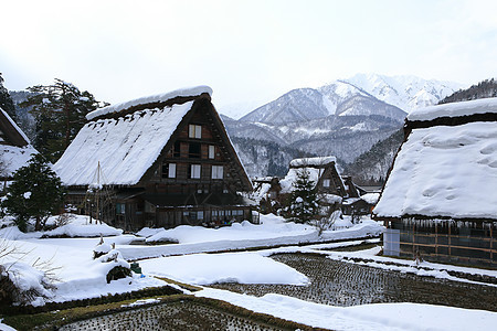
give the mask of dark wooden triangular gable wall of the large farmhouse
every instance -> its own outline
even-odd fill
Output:
[[[201,128],[200,138],[190,137],[190,126]],[[209,150],[212,147],[214,158],[210,158]],[[173,178],[169,177],[169,164],[175,164]],[[200,178],[191,178],[192,164],[201,167]],[[222,167],[222,179],[213,178],[213,167]],[[224,127],[208,98],[195,100],[192,110],[178,126],[139,185],[159,194],[235,193],[252,190]]]

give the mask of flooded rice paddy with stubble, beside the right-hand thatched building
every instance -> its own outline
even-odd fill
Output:
[[[416,302],[497,311],[497,288],[383,270],[314,254],[273,255],[310,279],[308,286],[218,284],[252,296],[281,293],[331,306]]]

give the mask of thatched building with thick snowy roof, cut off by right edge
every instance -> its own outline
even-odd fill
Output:
[[[420,108],[373,210],[384,253],[497,267],[497,98]]]

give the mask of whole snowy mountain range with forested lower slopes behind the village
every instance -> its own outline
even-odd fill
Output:
[[[271,175],[276,173],[269,169],[288,166],[281,162],[287,162],[295,150],[352,162],[398,131],[408,111],[436,104],[459,88],[456,83],[414,76],[358,74],[319,88],[293,89],[239,120],[224,118],[224,122],[231,137],[242,139],[237,148],[242,161],[250,164],[250,175]],[[242,143],[243,139],[251,142]],[[293,152],[274,157],[279,161],[272,160],[269,167],[262,161],[268,157],[267,148],[255,148],[269,142],[272,149],[275,143]]]

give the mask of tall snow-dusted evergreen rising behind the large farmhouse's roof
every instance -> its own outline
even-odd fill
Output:
[[[28,88],[30,96],[22,107],[32,106],[36,126],[34,147],[50,161],[55,162],[86,122],[86,114],[101,105],[87,90],[62,79],[53,85]]]

